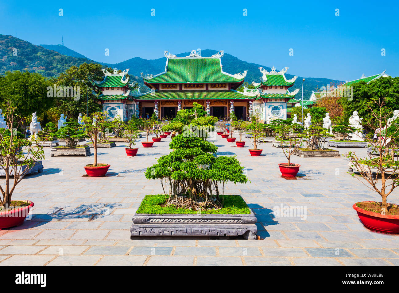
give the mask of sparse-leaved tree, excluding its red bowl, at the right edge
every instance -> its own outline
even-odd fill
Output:
[[[379,136],[377,142],[372,139],[373,132],[365,138],[365,141],[371,145],[373,153],[377,153],[377,156],[373,156],[370,153],[368,157],[358,157],[356,153],[350,151],[346,153],[346,157],[352,163],[354,167],[352,169],[357,169],[360,173],[361,177],[356,178],[363,179],[360,180],[361,183],[381,196],[382,202],[374,202],[377,211],[373,211],[379,212],[380,210],[381,214],[389,214],[391,206],[387,203],[387,197],[399,185],[399,161],[394,159],[395,153],[397,154],[395,149],[399,147],[399,128],[389,127],[389,131],[383,133],[386,130],[387,118],[392,114],[384,114],[385,99],[381,98],[376,103],[379,105],[377,110],[375,109],[375,103],[373,103],[373,106],[367,105],[371,117],[363,119],[363,125],[377,132]],[[390,145],[391,153],[389,153],[387,145]],[[373,173],[376,173],[376,176],[373,176]],[[354,173],[352,173],[352,176],[354,176]],[[359,207],[367,209],[362,206]]]

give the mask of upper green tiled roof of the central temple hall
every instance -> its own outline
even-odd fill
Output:
[[[145,79],[147,83],[237,83],[235,78],[222,73],[220,58],[169,58],[166,73]]]

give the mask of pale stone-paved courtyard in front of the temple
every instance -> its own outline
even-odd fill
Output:
[[[131,218],[146,194],[162,193],[159,181],[144,177],[146,167],[169,152],[170,138],[128,158],[125,144],[101,148],[99,163],[109,163],[107,177],[83,177],[90,157],[50,157],[45,149],[43,173],[28,175],[13,199],[35,203],[22,226],[0,230],[0,265],[399,265],[399,235],[371,232],[352,205],[380,201],[347,171],[340,158],[300,158],[297,180],[280,177],[282,150],[261,144],[263,155],[225,139],[211,139],[219,155],[234,155],[251,183],[225,185],[225,194],[241,194],[258,218],[262,240],[237,238],[134,238]],[[340,154],[366,149],[340,148]],[[399,203],[398,192],[388,197]],[[273,207],[306,208],[300,216],[274,217]]]

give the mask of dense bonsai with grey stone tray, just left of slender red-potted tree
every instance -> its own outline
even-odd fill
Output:
[[[85,140],[86,134],[83,126],[77,120],[70,119],[55,132],[57,138],[65,140],[65,146],[56,146],[51,148],[50,156],[55,155],[90,155],[90,147],[79,145],[80,140]]]

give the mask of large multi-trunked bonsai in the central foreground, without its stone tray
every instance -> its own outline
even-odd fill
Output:
[[[217,147],[196,136],[176,136],[169,144],[173,151],[148,167],[148,179],[160,179],[169,187],[167,206],[205,210],[223,207],[222,183],[246,183],[247,177],[235,157],[215,155]]]

